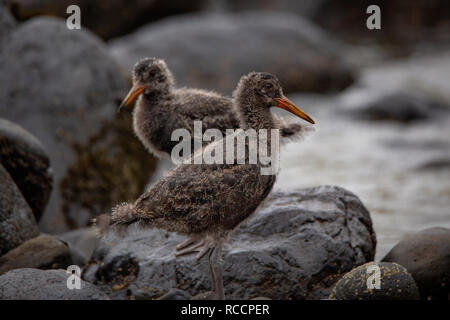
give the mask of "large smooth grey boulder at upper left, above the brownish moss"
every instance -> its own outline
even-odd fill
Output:
[[[127,91],[103,43],[56,18],[31,19],[14,29],[0,53],[0,84],[2,116],[43,143],[57,186],[74,161],[73,146],[114,118]],[[66,230],[61,202],[54,190],[40,222],[43,231]]]

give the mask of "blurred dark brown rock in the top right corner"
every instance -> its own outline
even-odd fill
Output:
[[[367,43],[370,39],[378,39],[380,43],[394,46],[409,44],[414,46],[421,40],[431,41],[433,38],[439,40],[439,36],[442,40],[447,39],[449,31],[447,22],[450,14],[448,2],[445,0],[436,0],[432,3],[427,0],[416,0],[414,3],[402,0],[318,2],[320,5],[312,12],[314,21],[352,41],[359,38]],[[377,4],[381,8],[382,30],[373,30],[369,36],[365,27],[369,16],[366,10],[372,4]],[[355,27],[356,25],[360,27]]]

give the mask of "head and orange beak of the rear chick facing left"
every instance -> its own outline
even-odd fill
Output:
[[[174,85],[172,73],[162,59],[144,58],[134,65],[133,87],[122,101],[119,111],[141,94],[166,93]]]

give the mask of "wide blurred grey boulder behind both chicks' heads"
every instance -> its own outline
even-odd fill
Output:
[[[179,85],[226,94],[253,70],[276,74],[286,92],[340,90],[353,82],[339,45],[288,13],[168,18],[111,41],[111,50],[127,72],[142,57],[161,57]]]

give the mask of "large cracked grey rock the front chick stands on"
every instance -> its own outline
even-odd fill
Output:
[[[125,262],[134,257],[137,278],[123,288],[127,290],[115,291],[115,298],[124,298],[126,292],[157,298],[171,288],[193,296],[210,290],[207,259],[174,257],[175,245],[183,240],[160,230],[123,240],[110,235],[94,252],[85,279],[100,283],[98,270],[112,275],[117,271],[104,266],[131,266]],[[275,192],[224,248],[227,298],[326,298],[345,272],[373,260],[375,245],[369,212],[351,192],[332,186]],[[111,292],[111,286],[103,288]]]

